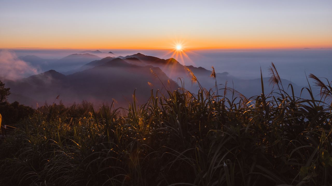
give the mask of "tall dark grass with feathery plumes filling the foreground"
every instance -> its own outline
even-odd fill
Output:
[[[301,99],[270,70],[279,88],[252,98],[224,86],[151,91],[125,114],[113,104],[41,107],[1,142],[0,184],[331,185],[331,85],[311,74],[322,99],[311,87]]]

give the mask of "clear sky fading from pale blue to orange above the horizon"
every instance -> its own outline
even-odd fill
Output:
[[[331,0],[0,0],[0,48],[331,48]]]

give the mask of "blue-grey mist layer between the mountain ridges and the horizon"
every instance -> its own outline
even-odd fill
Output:
[[[15,49],[17,56],[36,55],[43,59],[61,59],[71,54],[82,54],[85,49]],[[89,49],[86,49],[89,50]],[[96,50],[96,49],[90,49]],[[98,49],[101,54],[93,53],[100,58],[113,52],[115,57],[127,56],[136,53],[142,53],[149,56],[155,56],[162,59],[172,57],[170,50],[121,50],[121,49]],[[189,58],[183,60],[174,57],[182,65],[193,65],[194,67],[203,67],[211,70],[214,66],[216,72],[227,71],[232,76],[240,79],[255,79],[260,77],[260,68],[263,76],[269,77],[268,67],[273,62],[282,78],[288,79],[300,86],[306,86],[306,76],[309,73],[316,74],[319,77],[332,79],[330,69],[332,69],[332,49],[215,49],[215,50],[185,50]],[[69,64],[62,64],[69,65]],[[69,71],[80,65],[65,67],[61,69],[58,64],[52,68],[59,71]]]

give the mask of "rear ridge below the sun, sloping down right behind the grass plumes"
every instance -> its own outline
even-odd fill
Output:
[[[137,53],[131,56],[126,56],[124,60],[136,65],[152,65],[155,67],[159,67],[163,72],[167,74],[168,77],[178,82],[179,85],[181,85],[181,83],[184,84],[185,88],[193,93],[197,93],[199,87],[198,84],[191,83],[191,78],[188,76],[188,71],[185,70],[185,67],[190,69],[195,74],[198,81],[204,88],[210,89],[215,86],[215,80],[210,77],[211,70],[207,70],[203,67],[194,67],[192,65],[183,66],[173,58],[165,60]],[[181,81],[179,78],[181,79]],[[260,79],[239,79],[236,76],[230,75],[228,72],[216,72],[216,80],[217,84],[222,84],[218,86],[219,89],[224,88],[226,81],[228,81],[228,87],[234,88],[235,90],[239,91],[247,97],[261,94]],[[272,91],[273,88],[272,86],[269,86],[268,80],[269,78],[263,79],[266,92]],[[288,86],[288,84],[290,84],[290,81],[287,79],[283,79],[283,83],[285,86]],[[295,94],[299,96],[301,88],[294,83],[293,88]],[[213,88],[212,90],[215,90],[215,88]],[[288,93],[290,93],[290,89],[288,90]]]

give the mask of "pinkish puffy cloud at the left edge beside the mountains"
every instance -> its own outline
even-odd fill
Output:
[[[20,79],[37,74],[37,69],[20,60],[14,52],[0,50],[0,76],[6,79]]]

